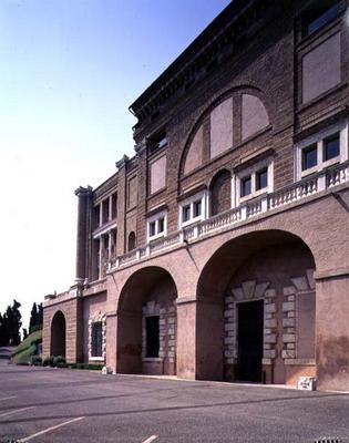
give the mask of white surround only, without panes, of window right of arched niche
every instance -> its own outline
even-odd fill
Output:
[[[257,173],[261,169],[267,169],[268,184],[261,189],[256,189],[256,177]],[[242,197],[242,182],[244,178],[250,176],[250,194]],[[271,157],[265,158],[263,161],[256,162],[246,169],[242,169],[234,174],[232,177],[232,205],[233,207],[238,207],[240,204],[258,197],[259,195],[273,193],[274,190],[274,161]]]

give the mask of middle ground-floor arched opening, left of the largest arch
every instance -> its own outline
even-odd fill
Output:
[[[163,268],[143,268],[129,278],[117,307],[119,373],[176,373],[176,298]]]

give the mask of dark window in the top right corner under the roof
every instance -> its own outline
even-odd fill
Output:
[[[339,12],[338,0],[315,1],[314,4],[304,13],[302,35],[311,35],[332,20]]]

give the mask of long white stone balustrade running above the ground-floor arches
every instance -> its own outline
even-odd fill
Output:
[[[280,208],[304,198],[316,195],[322,190],[333,188],[349,182],[349,162],[341,163],[308,178],[301,179],[270,194],[264,194],[250,199],[240,206],[226,210],[206,220],[196,223],[166,237],[151,241],[143,248],[132,250],[114,258],[110,262],[110,271],[123,265],[141,260],[183,244],[195,241],[198,238],[214,235],[219,230],[227,230],[237,223],[248,220],[260,214]]]

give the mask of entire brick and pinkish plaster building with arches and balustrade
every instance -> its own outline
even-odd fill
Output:
[[[131,105],[78,196],[43,352],[117,373],[349,389],[348,1],[234,0]]]

